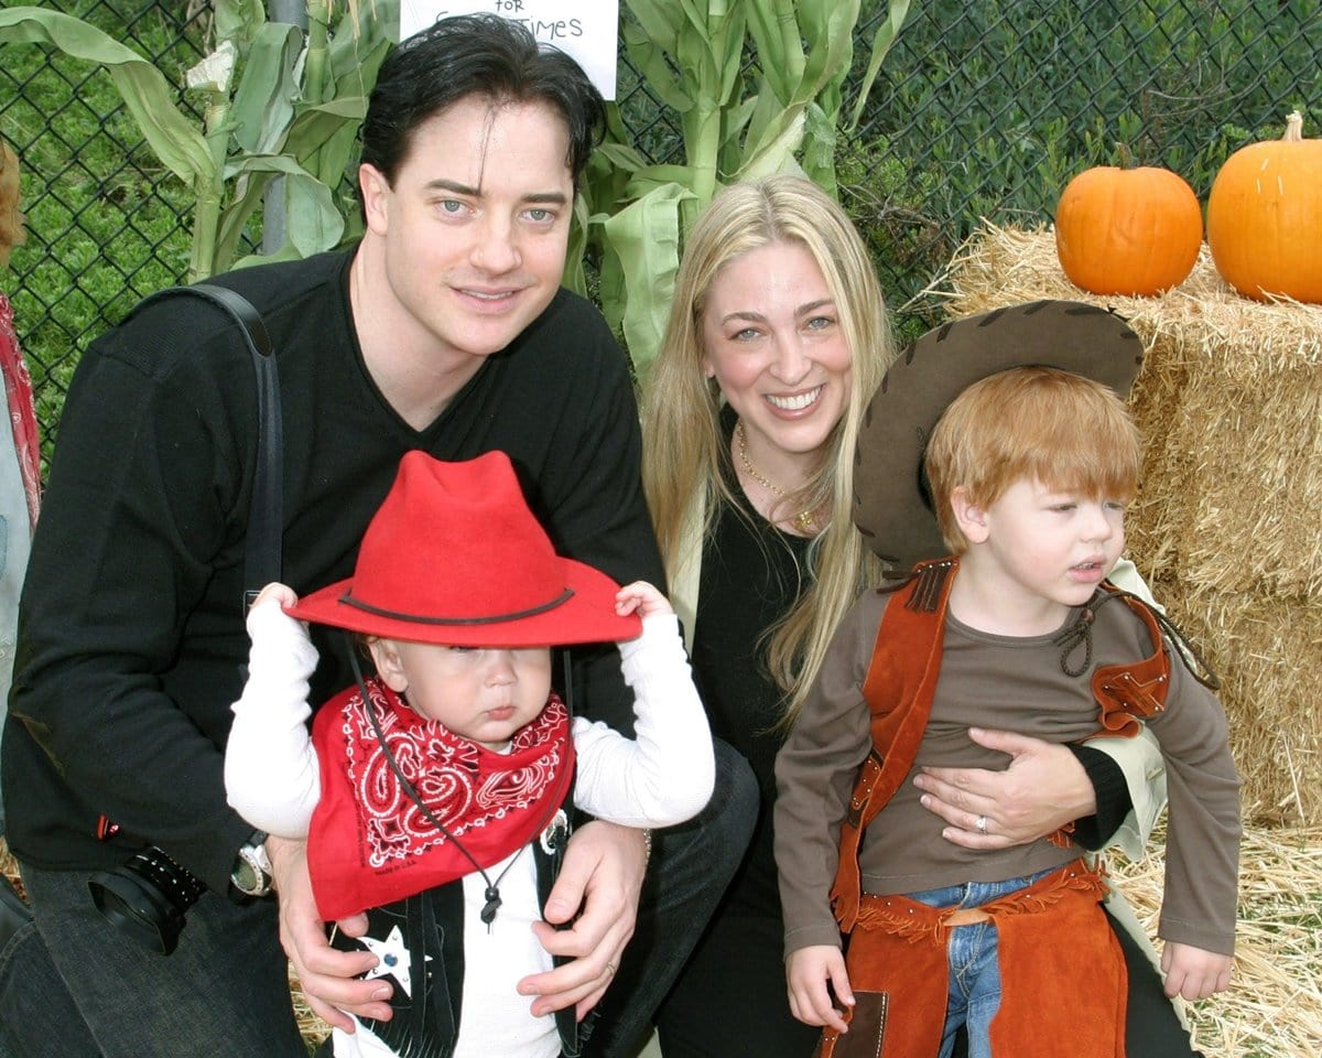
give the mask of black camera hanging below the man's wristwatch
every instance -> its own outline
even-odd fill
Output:
[[[188,911],[206,886],[155,845],[122,868],[87,881],[93,902],[110,922],[140,944],[169,955],[178,944]]]

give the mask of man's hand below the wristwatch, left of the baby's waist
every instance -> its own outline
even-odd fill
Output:
[[[349,1033],[354,1030],[349,1013],[389,1021],[390,985],[379,979],[354,980],[377,965],[377,956],[366,951],[340,951],[327,940],[312,898],[307,844],[270,836],[266,850],[280,899],[280,943],[293,963],[312,1013]],[[368,928],[368,916],[354,915],[338,927],[349,936],[361,936]]]

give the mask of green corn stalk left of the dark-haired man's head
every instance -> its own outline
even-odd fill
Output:
[[[344,7],[344,5],[341,5]],[[0,44],[54,46],[102,66],[161,164],[193,192],[189,282],[241,258],[267,185],[283,176],[286,245],[262,258],[307,257],[357,221],[345,192],[368,93],[398,33],[398,0],[308,0],[308,38],[266,19],[260,0],[215,0],[214,50],[188,74],[201,122],[156,66],[95,26],[37,7],[0,11]]]

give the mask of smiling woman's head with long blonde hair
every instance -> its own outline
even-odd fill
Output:
[[[763,282],[768,262],[787,258],[800,264],[810,261],[804,271],[816,270],[812,278],[825,296],[801,305],[776,304],[777,291],[768,288],[765,308],[785,313],[783,333],[776,333],[781,321],[772,320],[771,312],[746,312],[739,305],[736,323],[756,324],[765,333],[736,327],[731,337],[715,335],[709,344],[705,313],[728,286],[723,270],[738,262],[755,282]],[[777,405],[775,394],[767,395],[769,390],[812,389],[817,374],[830,374],[833,368],[812,373],[801,370],[801,364],[772,365],[761,393],[754,394],[764,406],[746,422],[738,414],[738,397],[726,393],[722,402],[720,361],[727,353],[719,346],[742,346],[731,354],[769,361],[793,356],[784,350],[784,340],[797,332],[805,336],[804,361],[812,361],[813,349],[824,343],[836,346],[832,352],[842,350],[843,370],[829,384],[837,391],[810,394],[814,401],[802,407],[797,405],[804,397],[792,399],[793,407],[784,407],[784,401]],[[783,536],[809,541],[808,562],[800,570],[802,591],[767,643],[772,677],[785,696],[777,722],[792,722],[832,631],[880,570],[850,521],[849,467],[867,399],[892,354],[886,304],[867,250],[849,217],[821,188],[800,177],[775,176],[735,184],[717,197],[685,247],[665,339],[644,397],[642,479],[661,554],[677,589],[687,589],[698,575],[701,549],[695,545],[715,529],[722,505],[751,504]],[[722,417],[730,419],[728,428],[722,427]],[[816,428],[814,439],[821,435],[816,447],[800,440],[806,422]],[[780,444],[788,444],[787,450],[775,451]],[[761,463],[752,458],[758,450],[771,450]],[[793,469],[779,480],[759,469],[769,473],[777,464]],[[735,477],[723,467],[734,469]],[[695,603],[697,591],[685,590],[690,636]]]

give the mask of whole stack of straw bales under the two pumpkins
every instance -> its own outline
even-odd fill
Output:
[[[953,316],[1067,298],[1129,320],[1129,553],[1222,677],[1247,817],[1322,821],[1322,305],[1239,296],[1206,246],[1178,288],[1103,298],[1066,278],[1050,230],[994,225],[927,294]]]

